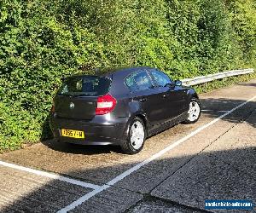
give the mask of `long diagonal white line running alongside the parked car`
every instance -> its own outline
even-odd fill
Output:
[[[253,99],[256,98],[256,95],[249,99],[248,101],[245,101],[243,103],[241,103],[240,105],[238,105],[237,107],[231,109],[228,112],[225,112],[223,115],[219,116],[218,118],[215,118],[214,120],[212,120],[210,123],[205,124],[203,126],[201,126],[200,128],[198,128],[197,130],[191,132],[189,135],[186,135],[185,137],[179,139],[178,141],[172,143],[171,145],[169,145],[168,147],[166,147],[165,149],[161,150],[159,153],[155,153],[152,157],[144,160],[143,162],[136,164],[135,166],[131,167],[130,170],[126,170],[125,172],[123,172],[122,174],[120,174],[119,176],[116,176],[115,178],[113,178],[113,180],[108,181],[105,185],[103,185],[102,187],[96,188],[95,190],[93,190],[90,193],[85,194],[84,196],[80,197],[79,199],[75,200],[72,204],[67,205],[66,207],[64,207],[63,209],[59,210],[59,213],[64,213],[67,212],[68,210],[73,210],[74,208],[76,208],[77,206],[79,206],[79,204],[84,203],[86,200],[90,199],[91,197],[95,196],[97,193],[101,193],[102,191],[104,191],[105,189],[107,189],[108,187],[113,186],[113,184],[117,183],[118,181],[123,180],[126,176],[130,176],[131,173],[133,173],[134,171],[140,169],[141,167],[143,167],[143,165],[150,163],[151,161],[153,161],[156,158],[159,158],[160,156],[162,156],[163,154],[169,152],[170,150],[172,150],[174,147],[177,147],[178,145],[182,144],[184,141],[187,141],[189,138],[193,137],[194,135],[196,135],[197,133],[201,132],[202,130],[205,130],[207,127],[211,126],[212,124],[215,124],[216,122],[218,122],[221,118],[226,117],[227,115],[229,115],[230,113],[236,111],[236,109],[246,105],[249,101],[253,101]]]

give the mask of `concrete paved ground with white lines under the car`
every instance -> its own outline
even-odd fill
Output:
[[[255,204],[255,95],[256,80],[201,95],[198,123],[149,138],[134,156],[54,141],[2,154],[0,211],[203,212],[205,199]]]

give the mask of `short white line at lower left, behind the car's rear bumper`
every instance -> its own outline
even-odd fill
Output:
[[[12,169],[15,169],[15,170],[26,171],[26,172],[29,172],[29,173],[32,173],[32,174],[35,174],[35,175],[38,175],[38,176],[46,176],[46,177],[49,177],[49,178],[52,178],[52,179],[55,179],[55,180],[65,181],[65,182],[71,183],[73,185],[78,185],[80,187],[88,187],[88,188],[92,188],[92,189],[97,189],[97,188],[100,187],[100,186],[97,186],[97,185],[94,185],[94,184],[91,184],[91,183],[88,183],[88,182],[78,181],[78,180],[68,178],[68,177],[65,177],[65,176],[60,176],[60,175],[56,175],[56,174],[53,174],[53,173],[40,171],[40,170],[33,170],[31,168],[27,168],[27,167],[16,165],[16,164],[9,164],[9,163],[3,162],[1,160],[0,160],[0,165],[9,167],[9,168],[12,168]]]

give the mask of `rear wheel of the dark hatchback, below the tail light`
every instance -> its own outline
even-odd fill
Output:
[[[145,125],[141,118],[134,118],[128,130],[128,137],[125,143],[121,146],[126,154],[136,154],[143,149],[146,132]]]

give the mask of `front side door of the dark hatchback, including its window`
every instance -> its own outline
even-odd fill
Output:
[[[176,118],[184,111],[185,90],[180,86],[174,85],[172,80],[164,72],[153,69],[149,73],[160,89],[165,121]]]

